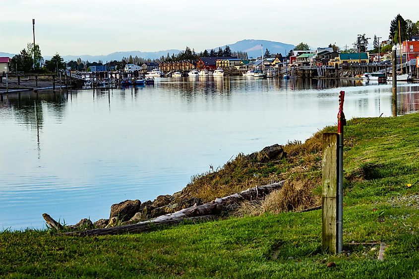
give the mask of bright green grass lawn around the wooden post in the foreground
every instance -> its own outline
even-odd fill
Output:
[[[267,164],[263,170],[318,178],[319,138],[290,145],[290,159]],[[0,276],[419,278],[419,114],[353,119],[345,128],[345,139],[345,252],[341,255],[321,252],[318,210],[116,236],[4,231],[0,233]],[[305,164],[304,171],[297,171],[298,162]],[[235,171],[245,179],[243,173],[252,174],[251,167]],[[408,183],[413,186],[408,188]],[[377,260],[378,245],[350,245],[353,241],[384,241],[388,245],[384,261]],[[328,268],[329,262],[336,267]]]

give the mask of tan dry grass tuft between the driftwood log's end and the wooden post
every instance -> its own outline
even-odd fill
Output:
[[[272,192],[262,204],[264,212],[281,213],[299,211],[320,204],[320,197],[313,194],[318,182],[309,179],[287,180],[282,189]]]

